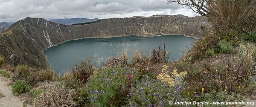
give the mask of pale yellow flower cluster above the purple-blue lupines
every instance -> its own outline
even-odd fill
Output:
[[[170,76],[168,73],[169,71],[166,71],[169,67],[164,65],[163,69],[161,70],[162,73],[157,75],[157,79],[160,79],[162,82],[168,84],[170,87],[175,86],[175,84],[180,85],[181,81],[183,81],[184,76],[187,74],[187,72],[180,72],[179,74],[177,73],[177,69],[175,68],[172,71],[172,75]]]

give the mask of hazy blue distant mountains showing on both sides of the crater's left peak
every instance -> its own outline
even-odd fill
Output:
[[[93,22],[93,21],[97,21],[97,20],[100,20],[100,19],[98,19],[98,18],[95,18],[95,19],[70,18],[70,19],[53,19],[53,20],[49,20],[49,21],[64,24],[64,25],[72,25],[72,24],[77,24],[77,23]],[[13,23],[15,23],[15,22],[2,22],[2,23],[0,23],[0,32],[3,32],[7,28],[9,28],[9,26],[11,26]]]

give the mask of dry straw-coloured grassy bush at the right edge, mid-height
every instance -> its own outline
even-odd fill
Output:
[[[239,93],[252,92],[255,86],[251,85],[253,80],[249,81],[251,75],[256,71],[256,46],[252,44],[239,45],[237,56],[224,61],[224,67],[219,71],[221,73],[220,83],[222,89],[229,89]],[[223,69],[226,69],[224,72]]]

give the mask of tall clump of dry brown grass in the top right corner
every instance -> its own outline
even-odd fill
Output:
[[[256,25],[256,6],[247,0],[215,0],[208,6],[209,21],[218,33],[252,30]]]

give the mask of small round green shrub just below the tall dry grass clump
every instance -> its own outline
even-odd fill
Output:
[[[217,46],[219,48],[219,51],[221,53],[231,53],[234,50],[234,47],[230,42],[227,42],[227,40],[221,40],[219,43],[217,43]]]

